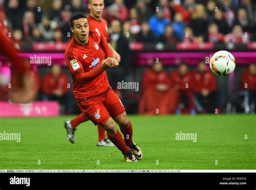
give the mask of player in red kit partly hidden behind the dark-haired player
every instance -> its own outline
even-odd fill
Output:
[[[89,22],[90,30],[95,30],[100,32],[105,37],[107,43],[109,43],[109,33],[107,32],[107,22],[102,18],[102,13],[104,9],[104,0],[90,0],[88,4],[88,8],[90,9],[90,15],[87,17]],[[113,57],[120,62],[120,55],[112,48],[109,43],[110,50],[113,54]],[[73,118],[71,121],[67,120],[64,122],[65,128],[72,128],[72,132],[68,134],[68,138],[71,143],[75,143],[74,133],[76,127],[85,121],[88,121],[89,118],[85,116],[83,113]],[[109,140],[106,138],[105,129],[98,125],[98,142],[97,146],[114,146]]]

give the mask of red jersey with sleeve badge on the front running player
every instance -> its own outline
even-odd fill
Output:
[[[84,83],[78,82],[75,78],[80,73],[93,73],[93,70],[100,69],[102,60],[113,56],[101,33],[90,31],[88,38],[89,43],[86,45],[79,45],[75,37],[72,38],[65,51],[65,61],[72,74],[73,94],[78,102],[110,89],[105,71]]]

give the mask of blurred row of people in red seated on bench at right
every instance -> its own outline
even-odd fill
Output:
[[[202,60],[194,71],[189,71],[182,63],[167,74],[161,62],[154,63],[143,75],[139,114],[220,113],[221,92],[206,66]],[[252,112],[256,104],[255,64],[242,72],[239,93],[244,112]]]

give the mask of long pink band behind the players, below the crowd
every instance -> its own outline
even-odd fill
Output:
[[[207,44],[206,44],[207,45]],[[255,44],[256,46],[256,44]],[[205,46],[202,46],[205,47]],[[256,62],[256,52],[231,52],[237,65],[248,65]],[[147,66],[152,61],[159,58],[164,65],[178,65],[180,62],[186,62],[187,65],[197,65],[198,61],[211,58],[214,52],[140,52],[133,56],[134,65]],[[52,64],[66,66],[64,53],[21,53],[22,57],[30,59],[31,57],[50,57]],[[0,55],[0,61],[5,61],[6,57]],[[46,64],[33,64],[34,66],[46,66]],[[49,66],[49,65],[48,65]]]

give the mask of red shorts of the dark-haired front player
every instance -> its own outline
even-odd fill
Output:
[[[125,112],[124,105],[111,88],[106,93],[78,102],[80,109],[95,125],[104,124],[110,117]]]

